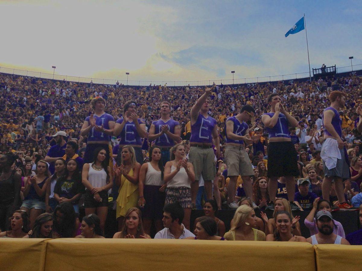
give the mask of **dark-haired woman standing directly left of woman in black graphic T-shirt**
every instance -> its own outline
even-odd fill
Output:
[[[56,184],[56,180],[64,175],[64,171],[66,169],[66,162],[59,158],[55,161],[55,172],[50,177],[50,184],[47,186],[45,193],[45,211],[51,213],[55,206],[58,204],[58,201],[54,198],[54,188]]]

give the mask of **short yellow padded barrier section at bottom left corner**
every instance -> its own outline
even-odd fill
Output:
[[[0,238],[0,270],[44,270],[49,239]]]

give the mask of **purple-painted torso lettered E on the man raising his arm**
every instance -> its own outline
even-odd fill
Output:
[[[212,143],[212,130],[216,124],[214,118],[206,118],[199,113],[197,121],[191,125],[190,142]]]

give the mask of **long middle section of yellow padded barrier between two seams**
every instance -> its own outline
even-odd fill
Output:
[[[76,239],[47,242],[45,270],[315,270],[295,242]]]

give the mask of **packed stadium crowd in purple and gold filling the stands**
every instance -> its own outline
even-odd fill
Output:
[[[154,238],[362,244],[332,217],[359,208],[362,224],[359,77],[170,88],[0,74],[0,92],[0,237],[104,238],[113,208],[113,238],[154,227]],[[228,232],[215,216],[227,208]],[[190,225],[193,209],[205,216]]]

